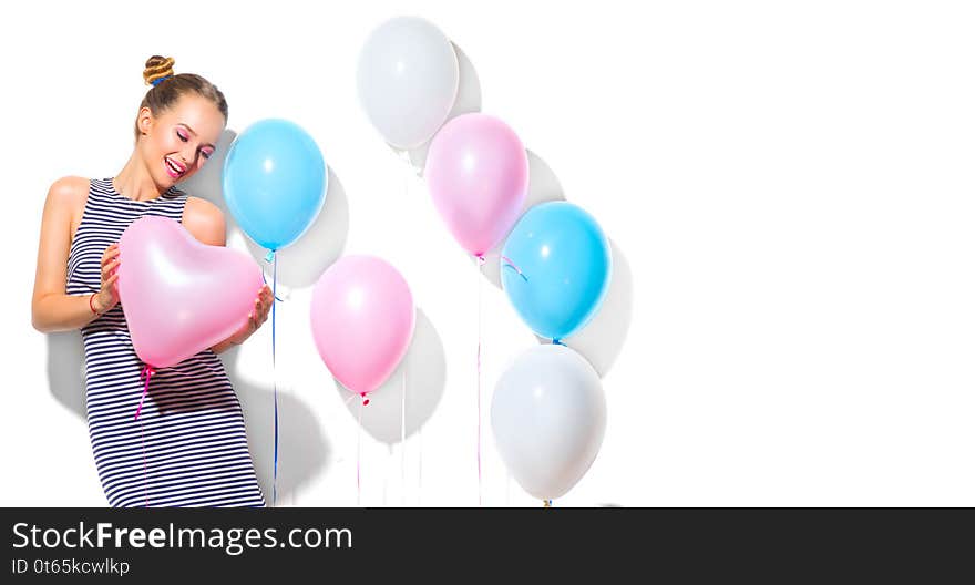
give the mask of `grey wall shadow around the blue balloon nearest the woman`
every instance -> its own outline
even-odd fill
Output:
[[[264,268],[270,283],[271,267],[264,260],[267,250],[244,234],[230,215],[223,195],[224,161],[236,136],[233,130],[225,130],[217,143],[216,154],[199,172],[186,179],[183,188],[191,195],[209,201],[224,212],[227,242],[234,234],[239,234],[247,243],[250,256]],[[346,246],[349,235],[349,199],[335,171],[329,166],[327,172],[325,205],[318,217],[295,244],[277,253],[279,298],[287,298],[289,289],[312,286],[321,273],[339,258]]]

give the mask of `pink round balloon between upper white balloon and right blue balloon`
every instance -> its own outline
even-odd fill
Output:
[[[528,189],[528,158],[507,124],[464,114],[433,137],[424,176],[453,237],[482,256],[517,222]]]

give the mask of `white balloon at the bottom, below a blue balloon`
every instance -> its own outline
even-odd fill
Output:
[[[491,428],[521,486],[541,500],[585,475],[606,430],[606,399],[592,366],[560,345],[525,351],[497,380]]]

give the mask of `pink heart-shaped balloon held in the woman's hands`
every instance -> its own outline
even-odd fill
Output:
[[[207,246],[178,222],[147,215],[119,240],[119,300],[138,358],[167,368],[247,322],[264,286],[243,252]]]

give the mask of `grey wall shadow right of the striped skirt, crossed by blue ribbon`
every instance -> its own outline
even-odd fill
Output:
[[[271,505],[274,486],[274,386],[255,384],[237,373],[234,348],[220,353],[224,368],[240,399],[247,443],[260,489]],[[331,449],[318,418],[304,400],[278,392],[278,501],[324,473],[332,462]]]

